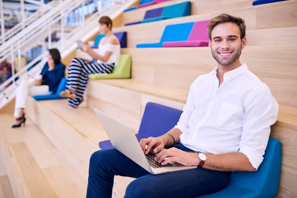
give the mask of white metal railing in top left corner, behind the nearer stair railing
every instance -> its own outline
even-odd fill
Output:
[[[51,9],[53,6],[44,4],[44,2],[40,2],[40,9],[35,11],[33,14],[31,14],[28,17],[24,17],[24,1],[29,1],[30,0],[20,0],[21,3],[21,22],[12,27],[11,29],[7,30],[5,32],[4,30],[4,15],[3,15],[3,3],[2,0],[0,2],[0,14],[1,14],[1,37],[0,37],[0,44],[4,43],[14,35],[16,35],[18,32],[20,32],[22,29],[30,25],[32,22],[40,18],[43,14],[45,14],[49,9]]]

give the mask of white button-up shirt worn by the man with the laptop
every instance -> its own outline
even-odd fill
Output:
[[[175,126],[182,131],[181,143],[205,153],[243,152],[257,169],[279,105],[246,64],[226,72],[220,87],[216,74],[217,67],[191,85]]]

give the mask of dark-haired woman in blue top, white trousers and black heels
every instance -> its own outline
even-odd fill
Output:
[[[64,77],[65,65],[61,63],[61,56],[58,49],[49,49],[47,55],[48,62],[42,69],[42,72],[35,79],[23,80],[16,89],[14,117],[16,123],[12,128],[20,127],[26,122],[24,108],[28,95],[48,95],[54,93],[61,79]]]

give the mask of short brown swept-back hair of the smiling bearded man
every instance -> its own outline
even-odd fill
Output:
[[[242,40],[243,38],[245,38],[246,24],[244,19],[237,16],[232,16],[230,14],[220,14],[218,16],[213,17],[207,24],[209,40],[211,41],[211,32],[215,26],[221,23],[230,23],[230,22],[238,25],[240,29],[240,39]]]

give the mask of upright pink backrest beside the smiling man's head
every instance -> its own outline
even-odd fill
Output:
[[[209,20],[197,21],[194,23],[188,41],[208,41],[207,23]]]

